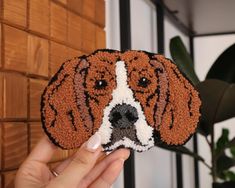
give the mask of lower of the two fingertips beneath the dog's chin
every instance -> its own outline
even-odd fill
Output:
[[[117,179],[123,168],[124,160],[118,159],[114,161],[102,174],[93,182],[90,188],[110,188],[114,181]]]

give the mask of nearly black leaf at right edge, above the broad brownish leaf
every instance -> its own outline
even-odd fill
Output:
[[[235,83],[235,44],[227,48],[215,61],[206,79],[219,79]]]

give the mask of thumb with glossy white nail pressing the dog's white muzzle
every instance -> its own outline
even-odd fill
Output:
[[[101,137],[94,134],[75,153],[71,163],[48,187],[76,187],[94,167],[101,152]]]

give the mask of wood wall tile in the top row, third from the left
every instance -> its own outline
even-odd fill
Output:
[[[51,37],[67,41],[67,11],[51,2]]]

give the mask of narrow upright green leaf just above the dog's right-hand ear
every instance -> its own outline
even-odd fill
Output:
[[[199,79],[194,71],[192,58],[179,36],[170,40],[170,52],[179,69],[196,85]]]

